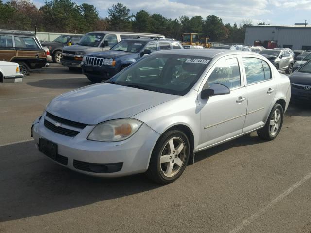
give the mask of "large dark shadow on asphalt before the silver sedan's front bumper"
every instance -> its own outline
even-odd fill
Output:
[[[0,222],[39,216],[160,187],[143,174],[86,176],[55,164],[34,142],[0,147]]]

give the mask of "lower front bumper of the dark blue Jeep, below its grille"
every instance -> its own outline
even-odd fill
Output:
[[[120,71],[119,66],[89,66],[86,64],[81,65],[82,71],[86,76],[101,77],[103,79],[109,79]]]

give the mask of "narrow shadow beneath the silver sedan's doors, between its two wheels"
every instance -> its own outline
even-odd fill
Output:
[[[195,154],[195,158],[194,158],[194,163],[199,162],[201,160],[204,160],[208,157],[211,157],[215,154],[221,153],[225,150],[228,150],[230,148],[233,147],[243,147],[243,146],[248,146],[248,145],[254,145],[254,144],[260,144],[260,143],[264,143],[267,142],[266,140],[263,140],[261,138],[259,138],[259,136],[257,136],[257,133],[250,133],[250,134],[246,134],[242,137],[239,137],[237,139],[234,139],[232,141],[220,144],[218,146],[209,148],[207,150],[202,150],[198,153]]]

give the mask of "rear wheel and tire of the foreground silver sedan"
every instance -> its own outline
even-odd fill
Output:
[[[277,120],[278,116],[279,119]],[[280,133],[280,130],[283,125],[283,119],[284,119],[283,107],[280,104],[276,103],[269,114],[266,124],[264,125],[263,128],[257,131],[257,135],[265,140],[275,139],[278,133]]]

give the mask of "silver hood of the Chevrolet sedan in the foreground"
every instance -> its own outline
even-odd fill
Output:
[[[100,83],[54,98],[46,111],[61,118],[92,125],[111,119],[128,118],[178,97]]]

